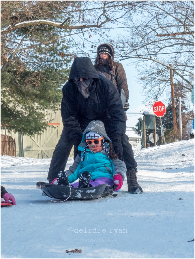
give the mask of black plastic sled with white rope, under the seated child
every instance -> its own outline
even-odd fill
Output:
[[[70,195],[71,188],[71,195]],[[113,194],[113,186],[101,184],[91,188],[75,188],[57,184],[45,184],[41,186],[43,193],[53,199],[71,199],[71,200],[90,200],[101,197],[116,197],[117,193]]]

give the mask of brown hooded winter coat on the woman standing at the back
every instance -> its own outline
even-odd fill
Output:
[[[113,84],[117,88],[118,92],[121,94],[120,90],[123,89],[124,92],[125,92],[126,100],[128,100],[129,99],[129,90],[128,90],[128,84],[127,84],[127,77],[126,77],[123,65],[119,62],[114,62],[115,51],[114,51],[113,46],[110,45],[110,44],[104,43],[104,44],[99,45],[98,48],[97,48],[97,56],[98,56],[98,49],[102,45],[108,45],[113,52],[112,53],[112,60],[113,60],[114,68],[113,68],[112,71],[109,71],[109,72],[112,73],[115,76],[115,79],[113,80]],[[97,68],[96,66],[95,66],[95,70],[98,72],[98,74],[103,73],[106,76],[106,78],[111,80],[111,75],[109,75],[108,73],[103,72],[102,70],[100,70],[100,68]]]

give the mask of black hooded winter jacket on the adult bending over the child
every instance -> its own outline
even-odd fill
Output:
[[[74,78],[90,77],[93,83],[89,87],[89,97],[84,98],[74,83]],[[79,120],[96,120],[101,117],[110,119],[112,135],[122,135],[126,130],[125,114],[119,93],[115,85],[96,72],[87,57],[75,58],[69,81],[62,89],[61,116],[65,131],[72,140],[82,138]]]

